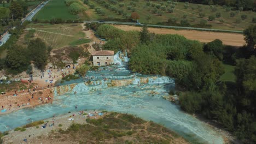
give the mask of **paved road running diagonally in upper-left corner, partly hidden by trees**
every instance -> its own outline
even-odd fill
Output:
[[[46,3],[48,3],[48,1],[44,2],[43,4],[40,4],[39,7],[37,7],[36,9],[34,9],[32,13],[28,14],[28,15],[26,16],[26,18],[25,18],[21,23],[23,23],[23,22],[26,21],[26,20],[27,20],[27,21],[31,21],[32,18],[33,18],[33,16],[36,15],[37,12],[38,12],[40,9],[42,9]],[[6,41],[10,38],[10,35],[11,35],[11,34],[7,33],[7,34],[5,34],[5,35],[2,37],[2,39],[0,40],[0,41],[2,41],[2,43],[0,44],[0,46],[2,46],[3,44],[6,43]]]

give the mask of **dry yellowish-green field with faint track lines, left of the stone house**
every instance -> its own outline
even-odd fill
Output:
[[[34,28],[36,32],[35,37],[41,38],[47,45],[58,49],[69,45],[80,45],[90,42],[85,38],[85,33],[82,32],[82,26],[80,24],[30,24],[27,28]],[[22,43],[22,38],[19,40]]]

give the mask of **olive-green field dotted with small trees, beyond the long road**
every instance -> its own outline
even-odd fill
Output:
[[[95,8],[101,8],[104,10],[105,15],[102,16],[100,14],[97,14],[95,9],[88,9],[90,13],[93,13],[94,15],[96,14],[97,16],[91,16],[91,19],[104,19],[104,18],[119,18],[119,19],[125,19],[122,17],[122,15],[119,15],[118,13],[115,13],[114,11],[109,9],[106,9],[103,4],[97,3],[97,0],[91,0],[89,1],[90,4],[94,4]],[[118,10],[123,10],[123,13],[126,14],[131,14],[131,10],[127,10],[127,6],[131,5],[130,0],[124,0],[124,2],[118,2],[117,4],[112,4],[109,1],[105,1],[106,3],[110,4],[110,7],[117,7]],[[124,7],[119,7],[119,3],[124,3]],[[160,4],[160,2],[150,2],[151,4]],[[167,2],[162,2],[165,6],[167,5],[167,8],[170,8],[171,4],[167,4]],[[256,16],[256,13],[252,11],[229,11],[226,12],[225,9],[220,6],[220,5],[214,5],[214,7],[217,9],[216,11],[213,12],[211,5],[200,5],[200,4],[189,4],[189,8],[185,8],[184,4],[182,2],[178,2],[175,8],[173,9],[173,13],[167,13],[167,11],[164,12],[162,16],[158,16],[157,14],[153,14],[151,12],[152,9],[154,9],[151,6],[146,5],[146,1],[139,1],[136,2],[136,7],[135,12],[137,12],[140,16],[139,22],[142,23],[153,23],[156,24],[158,22],[166,22],[170,17],[177,17],[178,18],[178,23],[183,19],[184,14],[187,15],[187,20],[189,20],[191,25],[195,25],[201,21],[201,19],[208,20],[208,16],[210,15],[216,15],[216,13],[220,13],[221,16],[219,18],[216,18],[214,21],[207,21],[207,24],[212,25],[212,28],[215,29],[231,29],[231,30],[243,30],[247,28],[249,25],[252,25],[252,17]],[[200,8],[201,7],[201,8]],[[160,8],[161,9],[161,8]],[[160,10],[158,9],[158,10]],[[233,12],[235,13],[234,17],[230,17],[230,13]],[[205,14],[204,17],[200,18],[199,13]],[[241,20],[241,15],[246,14],[247,19]],[[148,19],[148,15],[151,16],[150,19]],[[237,21],[237,19],[239,19]],[[222,21],[223,20],[223,21]],[[241,20],[241,21],[240,21]],[[240,22],[239,22],[240,21]]]

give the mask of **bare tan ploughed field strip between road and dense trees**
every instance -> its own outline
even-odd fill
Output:
[[[141,27],[126,26],[126,25],[114,25],[117,28],[124,31],[141,31]],[[194,31],[194,30],[174,30],[167,28],[148,28],[149,32],[156,34],[179,34],[183,35],[187,39],[199,40],[203,43],[208,43],[215,39],[222,40],[225,45],[243,46],[245,40],[242,34],[237,33],[222,33],[222,32],[206,32],[206,31]]]

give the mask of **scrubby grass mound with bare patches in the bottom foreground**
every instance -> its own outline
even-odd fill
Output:
[[[111,112],[100,119],[73,123],[67,130],[52,131],[44,141],[55,143],[188,143],[173,131],[132,115]],[[47,142],[45,142],[47,143]]]

